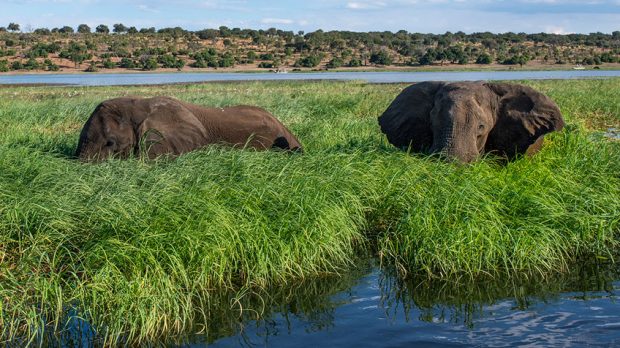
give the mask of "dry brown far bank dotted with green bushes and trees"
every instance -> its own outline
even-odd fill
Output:
[[[620,31],[611,34],[445,34],[275,28],[187,31],[182,28],[0,27],[0,72],[105,71],[111,69],[321,70],[465,66],[614,66]]]

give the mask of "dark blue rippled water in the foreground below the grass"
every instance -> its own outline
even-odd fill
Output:
[[[269,293],[261,319],[218,321],[185,346],[620,346],[617,269],[460,285],[395,279],[371,267],[332,284],[300,284],[284,298]]]

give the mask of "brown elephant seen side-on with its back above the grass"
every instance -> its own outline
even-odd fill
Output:
[[[144,153],[179,155],[209,144],[301,150],[273,115],[254,106],[207,108],[168,97],[115,98],[95,108],[76,156],[82,160]]]

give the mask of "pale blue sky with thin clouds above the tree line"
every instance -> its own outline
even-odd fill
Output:
[[[0,26],[590,33],[620,30],[620,0],[0,0]]]

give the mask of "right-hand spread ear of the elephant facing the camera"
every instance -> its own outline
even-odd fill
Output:
[[[564,127],[560,109],[546,95],[523,85],[486,85],[499,97],[497,121],[487,138],[486,152],[508,158],[533,154],[542,145],[545,134]]]

